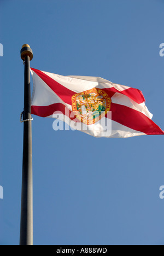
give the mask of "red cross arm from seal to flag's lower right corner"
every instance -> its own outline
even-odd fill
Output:
[[[110,111],[112,111],[112,120],[127,126],[133,130],[143,132],[147,135],[163,135],[161,130],[151,119],[143,113],[122,106],[120,104],[111,103]],[[106,115],[107,117],[107,115]]]

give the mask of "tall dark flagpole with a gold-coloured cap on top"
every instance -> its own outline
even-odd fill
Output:
[[[20,245],[33,245],[33,194],[32,194],[32,130],[31,130],[31,88],[30,61],[33,58],[30,45],[24,44],[21,59],[24,61],[24,146],[22,159],[22,193]]]

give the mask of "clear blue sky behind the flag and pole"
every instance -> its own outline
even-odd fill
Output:
[[[164,129],[162,0],[0,0],[0,243],[18,245],[24,106],[22,44],[31,67],[103,77],[143,91]],[[31,84],[32,86],[32,84]],[[35,245],[163,245],[163,136],[95,138],[33,116]]]

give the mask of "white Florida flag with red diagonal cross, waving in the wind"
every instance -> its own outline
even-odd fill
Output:
[[[31,68],[31,113],[65,121],[95,137],[163,135],[151,119],[142,91],[99,77],[63,76]],[[68,129],[68,127],[67,127]]]

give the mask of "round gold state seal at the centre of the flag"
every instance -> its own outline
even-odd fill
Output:
[[[111,102],[103,89],[93,88],[72,96],[72,110],[81,123],[91,125],[107,114]]]

